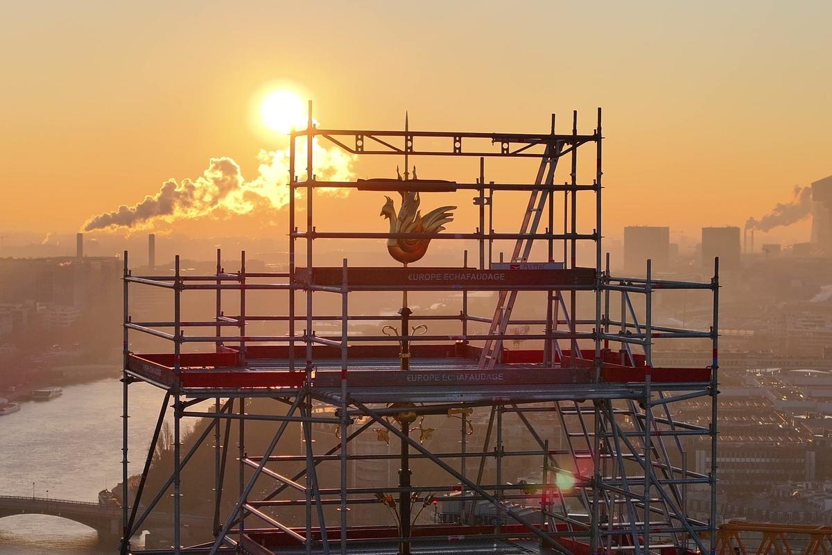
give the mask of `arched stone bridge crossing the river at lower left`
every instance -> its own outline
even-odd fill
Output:
[[[89,501],[0,495],[0,518],[15,514],[49,514],[95,528],[99,535],[121,538],[121,507]],[[173,516],[153,512],[145,520],[147,528],[170,528]],[[196,515],[182,515],[182,523],[210,529],[212,519]]]

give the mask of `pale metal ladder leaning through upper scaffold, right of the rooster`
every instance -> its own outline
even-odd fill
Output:
[[[548,156],[544,156],[540,161],[540,167],[537,169],[537,178],[534,181],[539,189],[532,189],[528,197],[528,205],[526,206],[526,213],[523,215],[522,224],[520,225],[520,233],[517,242],[514,244],[511,262],[526,262],[529,255],[532,254],[531,238],[523,235],[534,235],[537,233],[537,226],[540,225],[540,219],[543,214],[543,209],[546,207],[547,190],[546,186],[551,186],[555,178],[555,169],[557,168],[557,159],[561,155],[563,143],[557,141],[553,146],[547,148]],[[549,230],[551,233],[552,230]],[[488,336],[483,345],[483,352],[480,354],[479,362],[477,364],[478,370],[491,370],[500,359],[503,350],[503,339],[493,339],[494,335],[502,338],[508,328],[508,322],[511,319],[512,310],[514,308],[514,301],[517,300],[518,291],[501,290],[498,295],[497,307],[494,309],[494,315],[491,319],[491,325],[488,327]]]

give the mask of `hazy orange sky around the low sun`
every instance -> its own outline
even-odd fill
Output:
[[[631,224],[691,235],[741,225],[832,174],[827,1],[2,9],[0,233],[77,230],[167,179],[200,176],[212,156],[253,178],[258,151],[280,147],[251,117],[272,82],[310,97],[332,127],[398,128],[407,109],[417,129],[547,131],[554,111],[566,131],[575,108],[591,132],[603,107],[607,235]],[[358,217],[378,217],[378,195],[351,201]],[[323,215],[339,206],[329,200]],[[264,221],[222,225],[270,232]],[[775,235],[807,240],[808,225]]]

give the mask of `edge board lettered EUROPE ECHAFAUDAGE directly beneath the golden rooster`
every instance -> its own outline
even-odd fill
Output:
[[[343,268],[298,268],[298,280],[302,284],[341,287]],[[587,287],[595,285],[594,268],[511,269],[478,270],[476,268],[409,267],[409,268],[347,268],[347,284],[350,290],[374,287],[401,287],[403,289],[457,290],[500,289],[506,287],[557,289],[558,286]]]

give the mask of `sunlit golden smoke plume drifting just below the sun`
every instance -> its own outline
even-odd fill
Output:
[[[354,156],[335,147],[324,148],[313,143],[314,174],[320,180],[349,181],[352,179]],[[246,181],[240,165],[228,157],[211,158],[206,171],[194,180],[169,180],[155,195],[132,206],[121,205],[114,211],[92,216],[85,231],[128,227],[141,229],[157,221],[176,221],[202,216],[249,214],[253,211],[280,210],[289,203],[289,152],[260,151],[257,176]],[[304,171],[305,145],[297,149],[296,160]],[[346,189],[319,189],[322,194],[346,195]]]

